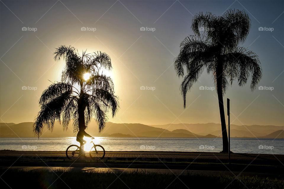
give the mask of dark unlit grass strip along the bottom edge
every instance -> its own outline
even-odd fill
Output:
[[[4,174],[3,174],[4,173]],[[3,174],[3,175],[2,175]],[[1,188],[284,188],[284,180],[234,176],[204,176],[158,173],[112,173],[75,171],[1,170]]]

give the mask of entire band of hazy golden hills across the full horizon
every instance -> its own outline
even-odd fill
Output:
[[[8,125],[8,126],[7,126]],[[1,123],[0,137],[34,137],[33,122],[19,124]],[[220,128],[219,128],[220,127]],[[169,129],[167,129],[169,128]],[[171,130],[170,128],[176,128]],[[248,130],[248,129],[249,130]],[[259,130],[257,130],[259,128]],[[212,131],[213,129],[216,129]],[[276,130],[275,130],[276,129]],[[194,132],[196,131],[196,132]],[[198,132],[199,131],[199,132]],[[202,132],[200,132],[202,131]],[[281,133],[282,131],[282,133]],[[217,138],[222,137],[221,126],[217,123],[206,124],[167,124],[160,126],[148,126],[140,123],[106,123],[104,130],[99,133],[98,126],[92,121],[86,132],[91,136],[102,137],[188,137],[188,138]],[[67,131],[62,125],[54,123],[53,132],[43,129],[41,137],[72,137],[72,123]],[[284,138],[283,126],[236,126],[231,127],[231,137],[235,138]]]

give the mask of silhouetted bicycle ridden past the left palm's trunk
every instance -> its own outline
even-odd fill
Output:
[[[90,144],[93,143],[93,147],[89,151],[89,155],[93,160],[102,160],[106,154],[104,147],[98,144],[94,144],[93,139]],[[83,153],[82,153],[83,154]],[[75,160],[82,156],[80,154],[80,147],[76,144],[68,146],[66,149],[66,156],[68,159]]]

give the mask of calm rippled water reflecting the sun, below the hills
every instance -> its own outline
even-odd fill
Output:
[[[89,140],[89,138],[84,138]],[[96,144],[106,151],[222,151],[221,138],[116,138],[97,137]],[[75,137],[58,138],[0,138],[0,149],[65,151],[78,144]],[[86,145],[88,150],[91,145]],[[284,154],[284,139],[231,139],[236,153]]]

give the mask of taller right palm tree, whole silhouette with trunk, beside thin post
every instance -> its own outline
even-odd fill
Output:
[[[191,29],[195,35],[183,40],[174,61],[179,77],[184,76],[184,68],[187,72],[180,85],[184,108],[186,93],[203,70],[206,68],[208,74],[212,73],[219,100],[223,152],[228,152],[223,95],[229,82],[232,85],[233,80],[238,79],[239,86],[243,86],[251,75],[250,89],[253,91],[262,78],[258,56],[239,46],[246,40],[250,27],[249,16],[244,11],[230,9],[218,17],[211,12],[200,12],[192,19]]]

